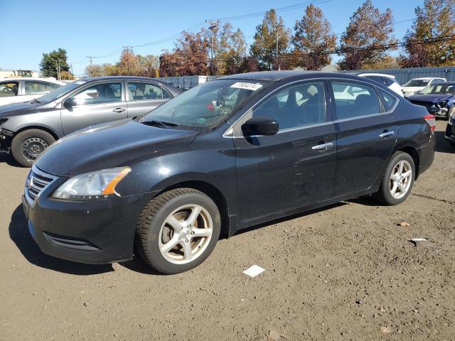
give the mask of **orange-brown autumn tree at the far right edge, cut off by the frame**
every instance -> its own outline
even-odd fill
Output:
[[[455,0],[425,0],[405,35],[402,67],[455,65]],[[449,38],[443,38],[451,36]],[[424,42],[424,43],[422,43]]]

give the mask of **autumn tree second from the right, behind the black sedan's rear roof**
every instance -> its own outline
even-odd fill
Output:
[[[392,11],[381,13],[371,0],[365,1],[350,17],[350,23],[341,36],[341,70],[358,70],[368,65],[383,63],[387,51],[397,48],[393,36]],[[387,46],[385,46],[387,45]]]

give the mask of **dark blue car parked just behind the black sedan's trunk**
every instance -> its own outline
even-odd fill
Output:
[[[455,82],[429,85],[407,99],[413,104],[426,107],[428,112],[436,117],[449,119],[455,104]]]

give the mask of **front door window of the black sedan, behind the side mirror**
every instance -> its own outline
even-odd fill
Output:
[[[323,82],[305,82],[273,94],[252,112],[253,117],[276,119],[279,130],[326,121]]]

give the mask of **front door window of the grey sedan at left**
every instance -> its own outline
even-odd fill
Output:
[[[73,95],[73,98],[78,106],[122,102],[122,83],[93,85]]]

